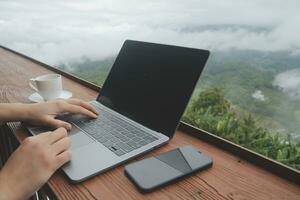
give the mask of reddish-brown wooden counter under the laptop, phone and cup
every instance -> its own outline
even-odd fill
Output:
[[[28,102],[33,92],[27,84],[31,77],[53,73],[42,64],[0,48],[0,103]],[[73,96],[92,100],[97,91],[78,81],[63,78],[64,88]],[[9,155],[11,143],[28,137],[20,123],[9,123],[1,129],[2,157]],[[8,141],[6,141],[6,139]],[[9,142],[9,144],[7,144]],[[192,144],[214,159],[213,167],[198,172],[180,182],[149,194],[141,194],[124,175],[119,166],[79,184],[72,184],[56,172],[45,188],[48,195],[57,199],[300,199],[299,185],[264,170],[243,158],[228,153],[212,144],[201,141],[191,134],[177,131],[171,142],[138,159],[157,155],[175,147]],[[10,150],[9,150],[10,148]],[[137,159],[135,159],[137,160]],[[132,161],[131,161],[132,162]]]

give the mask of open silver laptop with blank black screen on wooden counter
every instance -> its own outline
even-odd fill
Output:
[[[81,182],[167,143],[176,131],[209,51],[126,40],[96,100],[97,119],[72,123],[72,160],[62,170]],[[27,128],[33,134],[46,127]]]

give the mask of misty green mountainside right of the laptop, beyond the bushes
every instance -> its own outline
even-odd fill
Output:
[[[300,99],[292,98],[284,84],[275,82],[278,75],[291,70],[300,70],[300,56],[286,51],[212,52],[198,82],[198,92],[221,88],[237,112],[252,113],[262,126],[299,137]],[[291,77],[286,76],[282,83]],[[300,80],[300,75],[293,78]]]

